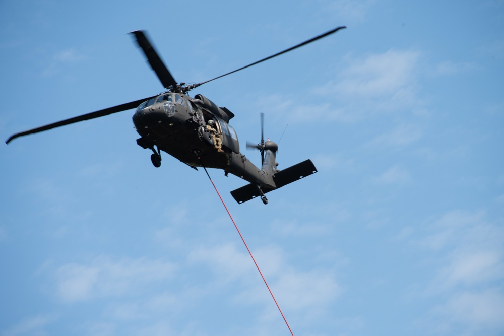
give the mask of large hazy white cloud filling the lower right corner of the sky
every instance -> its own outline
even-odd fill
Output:
[[[484,212],[452,211],[428,226],[423,242],[437,259],[426,294],[440,299],[434,323],[465,334],[504,331],[504,229]],[[497,285],[497,286],[496,286]]]

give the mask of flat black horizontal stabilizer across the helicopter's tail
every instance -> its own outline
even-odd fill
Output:
[[[280,170],[273,176],[273,179],[275,180],[275,184],[277,186],[276,189],[278,189],[316,172],[317,168],[315,168],[311,160],[306,160],[289,168]],[[262,187],[262,190],[263,193],[268,193],[275,189]],[[241,204],[247,200],[260,196],[261,193],[255,184],[249,183],[241,188],[231,191],[231,195],[238,203]]]

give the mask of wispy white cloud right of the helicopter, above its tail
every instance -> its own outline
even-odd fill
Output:
[[[306,123],[311,120],[352,122],[365,115],[407,110],[424,114],[423,102],[417,96],[420,52],[391,49],[365,58],[346,57],[344,70],[337,80],[312,90],[309,103],[279,95],[263,97],[259,110],[274,110],[282,121]]]

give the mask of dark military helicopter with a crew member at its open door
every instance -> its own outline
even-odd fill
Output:
[[[234,114],[225,107],[217,106],[202,94],[191,97],[188,92],[200,85],[334,34],[343,28],[346,27],[336,27],[242,68],[205,82],[188,85],[175,81],[145,31],[131,32],[165,91],[155,96],[18,132],[12,135],[6,144],[18,137],[136,108],[133,124],[140,135],[137,144],[153,152],[151,161],[155,167],[161,166],[161,152],[165,152],[196,170],[198,167],[222,169],[226,176],[231,173],[249,182],[231,191],[231,195],[239,204],[256,197],[260,197],[264,204],[268,204],[266,193],[314,174],[317,168],[309,159],[285,169],[277,168],[278,145],[269,139],[264,140],[264,113],[260,114],[261,141],[258,144],[248,142],[246,144],[247,148],[257,149],[261,153],[261,168],[256,167],[240,152],[238,136],[229,124]]]

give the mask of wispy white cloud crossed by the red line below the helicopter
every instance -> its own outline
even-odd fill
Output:
[[[297,271],[290,265],[283,250],[275,246],[256,248],[254,257],[273,294],[289,309],[317,308],[332,302],[341,292],[331,270]],[[257,269],[247,252],[234,244],[200,248],[189,259],[205,262],[213,270],[217,283],[240,281],[242,289],[235,302],[264,303],[272,300],[258,280]],[[258,295],[262,293],[262,295]]]

